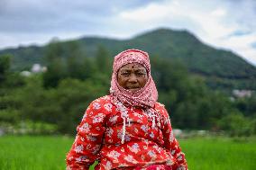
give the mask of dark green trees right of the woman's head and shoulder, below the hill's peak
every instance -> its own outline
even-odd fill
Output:
[[[202,78],[188,76],[180,61],[153,58],[152,67],[160,102],[166,105],[174,127],[213,129],[216,120],[232,111],[224,94],[208,89]]]

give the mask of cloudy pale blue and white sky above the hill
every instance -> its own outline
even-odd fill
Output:
[[[54,37],[127,39],[160,27],[186,29],[256,66],[255,0],[0,0],[0,49]]]

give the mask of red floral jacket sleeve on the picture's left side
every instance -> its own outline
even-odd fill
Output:
[[[66,157],[67,169],[89,169],[97,158],[105,132],[105,114],[100,103],[93,102],[87,108],[77,128],[76,139]]]

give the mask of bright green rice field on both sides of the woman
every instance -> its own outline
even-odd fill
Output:
[[[256,169],[256,139],[179,139],[190,170]],[[67,137],[0,137],[1,170],[65,169],[65,156],[73,142]]]

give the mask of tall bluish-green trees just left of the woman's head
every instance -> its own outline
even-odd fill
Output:
[[[108,78],[111,75],[111,62],[107,50],[99,46],[95,58],[85,58],[77,41],[61,44],[53,41],[48,46],[45,55],[48,71],[43,74],[44,87],[57,87],[59,81],[65,78],[79,80]],[[104,80],[103,80],[104,82]]]

